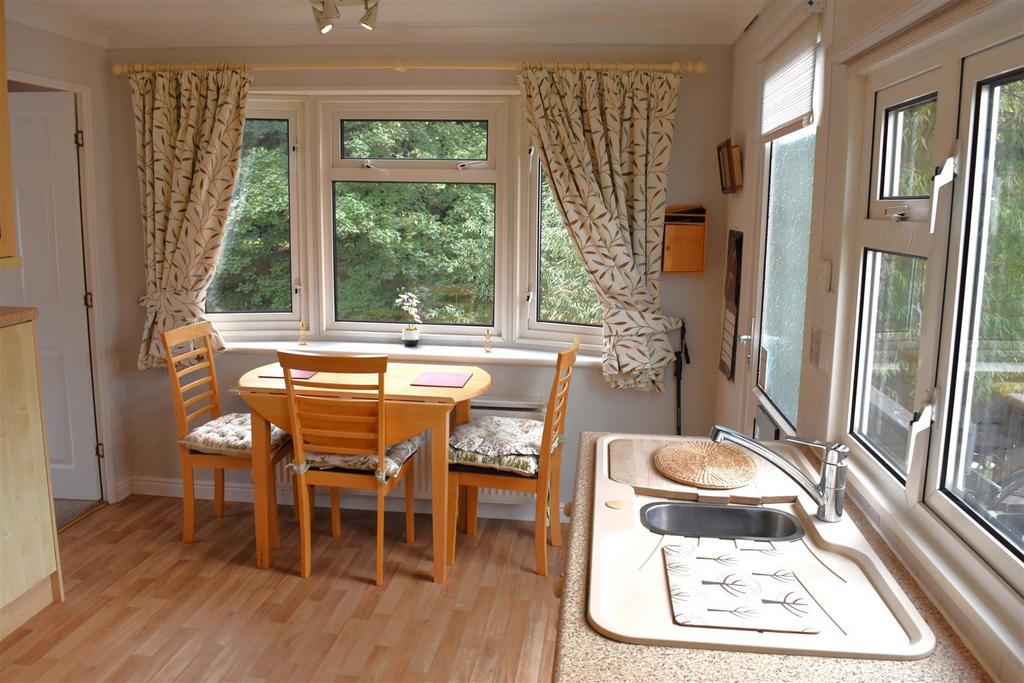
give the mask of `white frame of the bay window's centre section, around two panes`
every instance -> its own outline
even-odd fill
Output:
[[[509,340],[508,278],[512,233],[514,187],[509,166],[512,147],[509,135],[511,97],[374,95],[324,97],[318,101],[321,150],[318,188],[321,230],[319,325],[317,334],[326,339],[393,341],[403,323],[357,323],[335,319],[333,193],[335,181],[465,182],[495,185],[495,308],[490,326],[420,325],[424,335],[443,336],[449,341],[478,344],[487,330],[495,339]],[[460,169],[457,161],[341,158],[341,121],[382,120],[467,120],[487,121],[487,161],[471,162]]]

